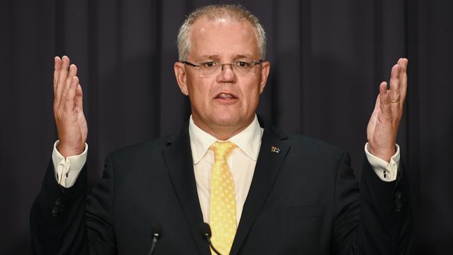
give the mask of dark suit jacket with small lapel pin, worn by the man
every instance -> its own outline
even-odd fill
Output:
[[[385,183],[364,160],[359,189],[347,153],[264,127],[231,254],[406,254],[406,173]],[[272,152],[271,146],[279,148]],[[402,164],[401,164],[402,165]],[[187,127],[107,157],[87,195],[86,166],[74,186],[56,183],[52,162],[31,209],[36,254],[209,254]]]

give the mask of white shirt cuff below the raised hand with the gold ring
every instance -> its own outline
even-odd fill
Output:
[[[369,153],[368,143],[365,144],[365,154],[371,167],[373,167],[376,174],[385,182],[391,182],[397,180],[398,166],[399,166],[399,145],[397,144],[397,152],[390,158],[390,163],[376,157]]]

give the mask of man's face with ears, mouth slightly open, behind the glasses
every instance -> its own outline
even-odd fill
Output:
[[[256,32],[249,22],[201,18],[192,24],[190,41],[190,63],[260,60]],[[194,123],[217,139],[229,139],[252,123],[270,64],[256,65],[247,74],[224,65],[210,76],[179,62],[174,68],[181,91],[190,98]]]

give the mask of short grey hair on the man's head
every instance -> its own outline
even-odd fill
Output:
[[[190,51],[190,26],[199,18],[207,17],[209,21],[219,20],[221,18],[230,17],[237,21],[247,21],[254,26],[256,35],[258,36],[258,50],[261,59],[266,56],[266,32],[263,26],[259,23],[258,18],[245,9],[243,6],[236,4],[220,4],[203,6],[197,8],[192,13],[185,17],[184,23],[179,28],[178,32],[178,54],[179,61],[186,61]]]

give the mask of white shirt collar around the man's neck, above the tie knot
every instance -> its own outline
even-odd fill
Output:
[[[194,164],[198,164],[201,158],[206,154],[206,151],[208,151],[209,147],[217,141],[217,139],[197,127],[192,119],[192,115],[189,120],[189,135],[190,147],[192,148],[192,159],[194,160]],[[252,123],[245,127],[245,130],[228,139],[228,141],[236,144],[236,146],[238,146],[240,150],[243,150],[247,156],[256,161],[258,159],[262,136],[263,128],[260,127],[258,118],[255,114]]]

